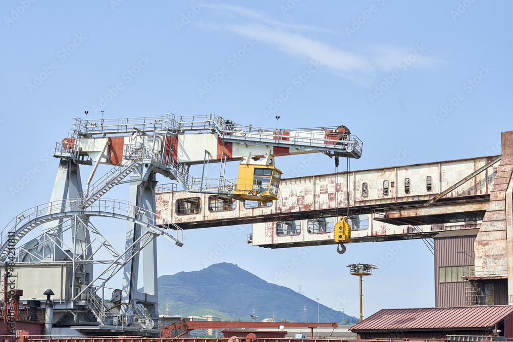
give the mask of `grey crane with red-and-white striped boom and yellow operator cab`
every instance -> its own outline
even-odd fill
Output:
[[[61,266],[66,279],[54,320],[63,326],[80,324],[82,329],[102,333],[122,327],[125,333],[155,335],[154,237],[166,236],[177,246],[183,245],[185,237],[180,227],[155,213],[156,174],[175,180],[190,192],[269,201],[278,198],[282,174],[274,157],[313,152],[336,159],[360,158],[362,142],[345,126],[269,129],[241,126],[214,114],[74,118],[71,133],[55,147],[54,156],[60,163],[50,203],[26,210],[4,228],[0,260],[16,265],[18,287],[28,286],[23,281],[29,280],[19,276],[23,272],[43,272],[42,265],[46,271]],[[225,175],[225,163],[231,160],[241,162],[234,179]],[[219,176],[208,177],[210,163],[221,163]],[[93,182],[100,164],[113,168]],[[202,174],[191,175],[191,165],[203,165]],[[85,189],[81,166],[92,166]],[[123,183],[130,185],[128,201],[103,197]],[[117,252],[90,223],[94,216],[128,221],[124,251]],[[40,235],[20,242],[40,226]],[[71,244],[65,241],[66,234],[71,236]],[[97,260],[99,250],[111,258]],[[137,289],[140,255],[144,292]],[[93,264],[103,264],[103,271],[93,273]],[[105,300],[105,283],[121,270],[122,289],[115,289],[112,298]],[[33,287],[38,288],[48,285],[40,282]],[[27,293],[30,295],[38,293]]]

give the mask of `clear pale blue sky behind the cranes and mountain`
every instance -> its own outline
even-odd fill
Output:
[[[54,143],[85,110],[89,118],[103,110],[106,118],[215,113],[264,127],[276,124],[275,115],[282,128],[343,124],[364,143],[352,169],[397,165],[398,154],[400,164],[498,154],[500,132],[513,129],[512,8],[482,0],[4,1],[4,222],[48,202]],[[304,158],[277,164],[287,177]],[[301,175],[333,171],[319,155]],[[13,192],[24,176],[30,182]],[[127,198],[127,188],[112,191]],[[124,235],[124,225],[112,227],[103,229]],[[277,282],[301,250],[248,246],[249,232],[191,231],[182,249],[160,240],[159,274],[205,267],[231,236],[216,261]],[[358,281],[345,266],[379,264],[396,250],[365,280],[365,314],[433,306],[433,260],[420,241],[350,245],[344,255],[334,246],[312,248],[279,284],[302,285],[305,295],[332,308],[341,302],[357,316]]]

